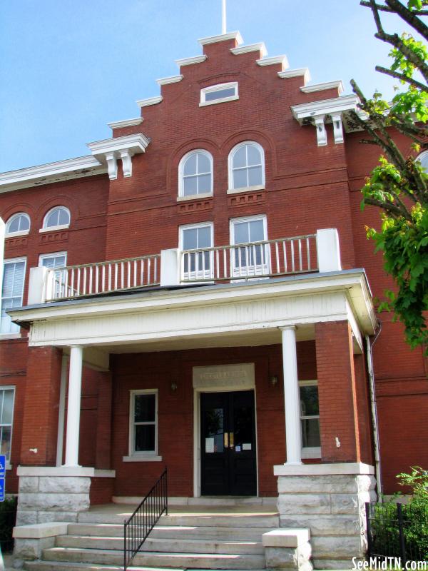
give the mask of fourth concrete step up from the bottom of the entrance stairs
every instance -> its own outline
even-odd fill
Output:
[[[272,527],[213,527],[203,525],[156,525],[150,537],[158,539],[213,539],[260,541],[263,533]],[[93,537],[122,537],[123,525],[114,523],[71,523],[69,535],[91,535]]]

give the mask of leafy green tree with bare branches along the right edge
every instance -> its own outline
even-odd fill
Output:
[[[361,143],[382,149],[379,164],[362,188],[362,208],[377,206],[382,227],[366,228],[367,236],[384,255],[384,268],[394,279],[396,291],[385,292],[387,300],[379,310],[394,311],[394,319],[404,324],[409,345],[422,345],[428,354],[428,173],[415,158],[428,148],[428,0],[362,0],[371,9],[377,32],[374,37],[392,46],[389,68],[376,66],[381,74],[399,80],[391,102],[382,94],[366,98],[352,80],[360,98],[360,112],[352,113],[352,123],[367,138]],[[396,14],[412,34],[388,33],[382,17]],[[412,153],[404,156],[394,143],[394,132],[409,138]]]

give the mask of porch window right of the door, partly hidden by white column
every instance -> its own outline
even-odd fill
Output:
[[[302,455],[304,458],[319,458],[320,405],[316,380],[300,380],[300,425],[302,428]]]

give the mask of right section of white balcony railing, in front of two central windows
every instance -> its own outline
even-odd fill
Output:
[[[316,235],[180,253],[182,282],[241,280],[317,271]]]

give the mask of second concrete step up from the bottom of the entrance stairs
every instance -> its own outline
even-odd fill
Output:
[[[43,550],[45,561],[121,565],[123,552],[115,550],[78,549],[75,547],[52,547]],[[161,553],[139,552],[133,560],[138,567],[173,567],[184,569],[263,569],[264,555],[234,555],[212,553]]]

